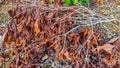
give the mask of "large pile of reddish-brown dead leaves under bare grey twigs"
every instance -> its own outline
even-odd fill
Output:
[[[97,29],[80,27],[72,9],[19,6],[9,11],[0,65],[8,68],[39,67],[45,55],[76,68],[120,67],[120,37],[107,44]]]

